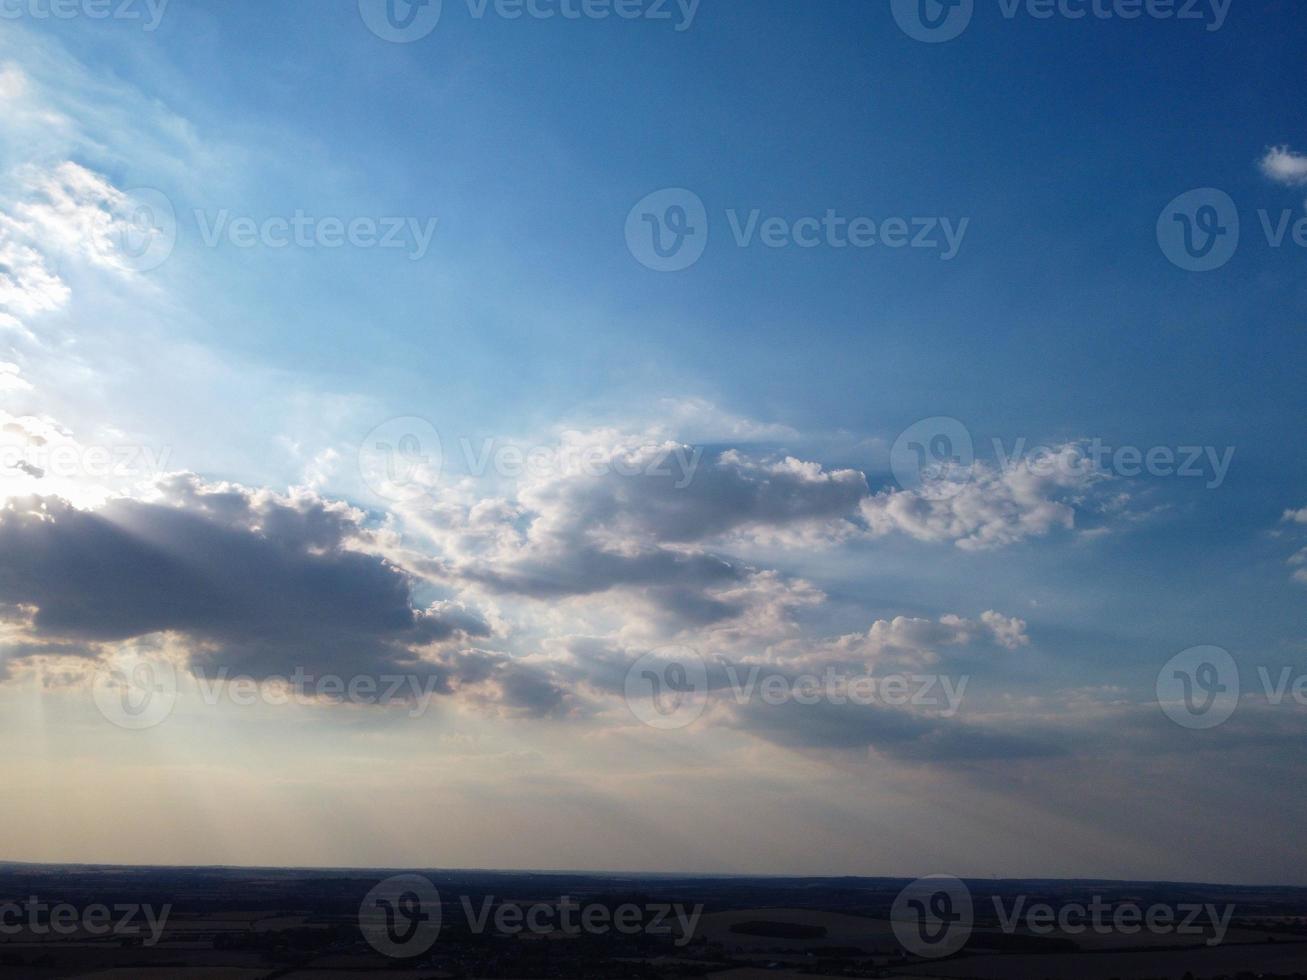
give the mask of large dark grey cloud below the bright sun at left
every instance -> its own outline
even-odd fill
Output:
[[[192,666],[251,677],[294,668],[421,669],[451,639],[488,636],[459,602],[413,602],[412,580],[365,550],[362,515],[193,476],[153,499],[78,510],[52,497],[0,508],[0,606],[31,610],[33,640],[101,647],[186,638]]]

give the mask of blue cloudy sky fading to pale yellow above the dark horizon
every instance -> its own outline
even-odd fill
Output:
[[[1307,883],[1303,26],[0,0],[0,857]]]

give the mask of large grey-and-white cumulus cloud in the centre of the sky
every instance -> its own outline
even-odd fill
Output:
[[[715,546],[725,536],[843,521],[865,495],[855,470],[618,443],[586,468],[525,481],[511,499],[444,497],[414,516],[443,551],[425,566],[438,578],[531,598],[626,591],[706,626],[775,598],[775,578]]]

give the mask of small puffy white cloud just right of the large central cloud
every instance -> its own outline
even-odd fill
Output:
[[[1067,444],[1038,463],[976,463],[970,481],[949,487],[951,495],[884,490],[861,502],[861,514],[873,536],[898,532],[980,551],[1074,529],[1077,507],[1106,480],[1078,447]]]

